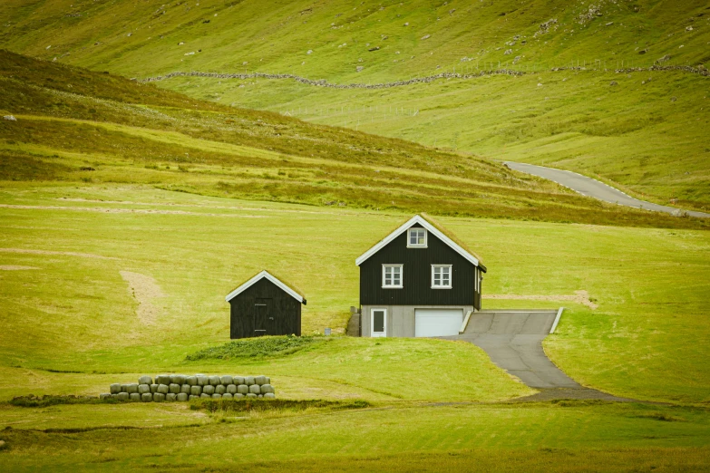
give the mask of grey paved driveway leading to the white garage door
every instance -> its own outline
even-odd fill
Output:
[[[491,361],[531,388],[582,389],[542,350],[557,311],[481,311],[471,315],[466,332],[441,337],[481,347]]]

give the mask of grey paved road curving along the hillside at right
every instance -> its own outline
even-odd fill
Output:
[[[638,200],[637,198],[628,197],[626,194],[618,190],[617,188],[612,188],[603,182],[599,182],[596,179],[587,178],[577,174],[576,172],[562,170],[562,169],[552,169],[545,168],[543,166],[535,166],[532,164],[525,164],[521,162],[506,161],[505,164],[511,168],[518,170],[520,172],[526,172],[540,178],[554,180],[558,184],[565,186],[566,188],[571,188],[576,190],[579,194],[583,196],[598,198],[599,200],[604,200],[606,202],[611,202],[612,204],[619,204],[622,206],[635,207],[635,208],[646,208],[647,210],[656,210],[657,212],[667,212],[673,213],[678,212],[677,208],[659,206],[657,204],[652,204],[645,200]],[[691,217],[710,217],[710,214],[705,212],[695,212],[693,210],[687,211],[688,215]]]

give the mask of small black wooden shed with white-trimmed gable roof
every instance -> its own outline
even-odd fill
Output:
[[[301,334],[306,298],[276,276],[262,271],[225,297],[231,306],[230,338]]]

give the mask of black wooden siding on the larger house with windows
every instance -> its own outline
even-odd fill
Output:
[[[388,264],[404,265],[404,288],[383,289],[382,265]],[[432,265],[452,265],[452,289],[432,289]],[[474,269],[431,232],[426,248],[407,248],[405,231],[360,265],[360,304],[474,305]]]

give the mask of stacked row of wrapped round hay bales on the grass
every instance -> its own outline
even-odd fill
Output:
[[[159,374],[155,382],[141,376],[138,383],[113,383],[101,399],[134,402],[174,402],[193,399],[274,399],[276,391],[268,376],[208,376]]]

